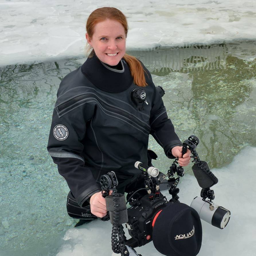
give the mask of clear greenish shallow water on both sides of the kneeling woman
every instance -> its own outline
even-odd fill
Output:
[[[256,42],[128,53],[165,89],[177,134],[182,141],[198,136],[200,159],[211,168],[231,163],[245,146],[256,146]],[[0,68],[1,256],[56,255],[64,233],[76,223],[66,213],[69,189],[46,145],[58,85],[84,61]],[[149,147],[159,156],[154,165],[166,173],[171,162],[152,137]],[[191,166],[185,169],[189,173]]]

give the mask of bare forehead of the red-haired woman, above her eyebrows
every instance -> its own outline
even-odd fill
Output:
[[[93,36],[116,36],[120,34],[125,34],[123,25],[116,20],[106,19],[95,25]]]

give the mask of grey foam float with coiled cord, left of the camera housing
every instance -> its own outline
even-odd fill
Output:
[[[105,199],[111,224],[123,224],[128,222],[128,213],[124,194],[112,194],[107,196]]]

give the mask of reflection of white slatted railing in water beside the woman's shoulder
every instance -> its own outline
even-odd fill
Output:
[[[174,71],[188,73],[224,69],[226,51],[225,44],[190,44],[174,48],[158,47],[153,52],[134,51],[131,54],[138,56],[153,74],[167,75]]]

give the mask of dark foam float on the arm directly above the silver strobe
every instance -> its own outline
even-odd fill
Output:
[[[200,163],[195,163],[192,166],[192,170],[198,185],[202,188],[211,187],[218,182],[218,179],[210,171],[210,168],[205,161],[201,161],[201,165]]]

